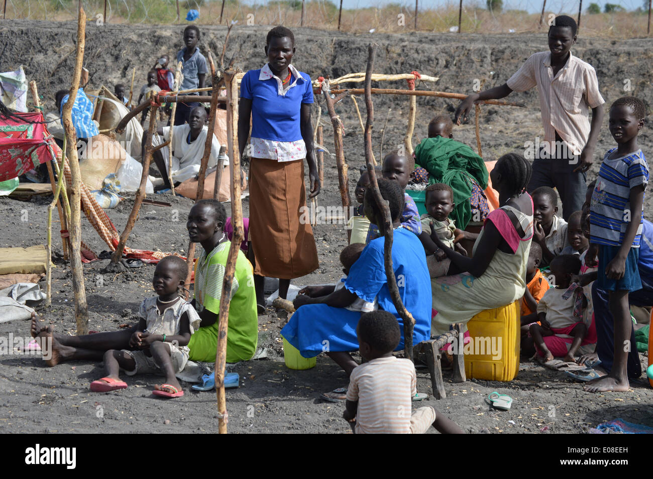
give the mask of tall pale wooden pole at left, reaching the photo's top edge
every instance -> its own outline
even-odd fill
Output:
[[[77,157],[77,134],[72,124],[72,106],[77,97],[77,90],[82,76],[82,62],[84,61],[84,35],[86,33],[86,13],[82,8],[82,2],[78,4],[77,17],[77,52],[75,57],[75,68],[72,72],[71,91],[66,104],[63,106],[63,129],[66,135],[66,155],[71,166],[72,188],[70,192],[71,201],[71,273],[72,291],[75,298],[75,322],[77,334],[88,334],[88,304],[86,303],[86,291],[84,290],[84,270],[82,269],[82,174],[80,172],[79,159]],[[59,170],[63,175],[63,171]]]

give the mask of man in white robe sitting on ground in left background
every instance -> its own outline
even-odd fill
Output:
[[[206,123],[206,110],[202,106],[196,106],[191,110],[188,118],[188,123],[183,125],[175,125],[172,134],[172,142],[167,147],[155,151],[153,159],[161,176],[163,178],[151,178],[156,189],[170,188],[170,181],[168,180],[168,147],[172,147],[172,181],[177,185],[183,183],[187,179],[195,178],[200,171],[200,164],[202,156],[204,155],[204,145],[206,144],[206,134],[208,127]],[[145,139],[145,134],[143,138]],[[161,136],[163,136],[163,140]],[[220,143],[215,134],[212,134],[213,142],[211,146],[211,155],[208,159],[208,168],[215,170],[217,166],[217,157],[220,150]],[[170,138],[170,127],[163,127],[157,129],[157,135],[152,139],[153,146],[160,145]],[[145,142],[143,142],[145,144]],[[228,161],[225,161],[225,166]],[[208,172],[207,172],[208,174]]]

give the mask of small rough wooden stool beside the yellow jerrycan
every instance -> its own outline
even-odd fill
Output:
[[[447,397],[445,392],[445,384],[442,379],[442,365],[440,360],[442,354],[440,349],[445,345],[454,341],[462,341],[462,336],[467,330],[466,326],[462,323],[453,325],[454,329],[450,332],[439,335],[436,339],[428,339],[413,347],[413,358],[420,359],[428,367],[428,372],[431,375],[431,385],[433,388],[433,395],[436,399],[444,399]],[[460,339],[459,339],[460,338]],[[462,356],[462,348],[454,348],[456,354],[453,356],[453,382],[465,382],[465,361]]]

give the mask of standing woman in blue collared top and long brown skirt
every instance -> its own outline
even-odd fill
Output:
[[[300,221],[306,207],[304,158],[308,163],[310,198],[320,192],[313,152],[310,76],[291,60],[295,36],[274,27],[266,38],[268,63],[249,70],[240,84],[238,147],[242,155],[249,136],[249,259],[259,313],[264,311],[263,279],[279,278],[279,296],[286,298],[290,280],[317,270],[317,248],[310,223]],[[306,217],[306,215],[303,215]]]

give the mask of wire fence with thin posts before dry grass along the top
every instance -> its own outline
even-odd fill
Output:
[[[247,3],[249,1],[250,3]],[[89,16],[102,23],[282,24],[355,33],[524,33],[547,27],[557,14],[581,20],[590,35],[650,35],[650,0],[403,0],[370,7],[368,0],[86,0]],[[605,1],[605,0],[604,0]],[[0,0],[3,19],[75,20],[77,0]],[[197,18],[189,17],[190,10]]]

